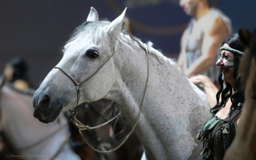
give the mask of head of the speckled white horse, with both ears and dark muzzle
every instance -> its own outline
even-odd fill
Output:
[[[111,59],[110,56],[118,46],[125,12],[126,9],[110,23],[98,21],[97,11],[91,8],[86,22],[76,28],[64,46],[64,55],[56,65],[58,68],[48,73],[36,91],[34,117],[45,123],[54,121],[61,111],[76,106],[78,88],[79,104],[101,99],[111,91],[119,62],[118,54]],[[74,85],[76,83],[81,85]]]

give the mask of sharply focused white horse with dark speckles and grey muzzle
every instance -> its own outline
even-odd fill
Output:
[[[91,8],[87,21],[66,43],[64,56],[56,67],[82,82],[117,49],[81,86],[79,103],[111,99],[133,126],[146,84],[147,61],[143,43],[121,32],[125,12],[110,23],[98,21],[98,13]],[[146,97],[135,128],[146,159],[201,159],[202,144],[196,135],[210,114],[207,97],[182,75],[173,60],[151,45],[147,45],[150,75]],[[60,69],[52,69],[34,95],[34,117],[46,123],[54,121],[60,111],[76,105],[76,93],[70,78]]]

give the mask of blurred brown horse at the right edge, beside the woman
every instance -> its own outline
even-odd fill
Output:
[[[236,137],[227,150],[224,160],[256,159],[256,30],[253,34],[240,30],[239,36],[247,47],[240,63],[245,101]]]

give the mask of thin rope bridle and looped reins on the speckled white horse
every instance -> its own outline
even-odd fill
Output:
[[[76,109],[75,109],[75,112],[72,112],[72,111],[69,110],[69,111],[71,112],[71,114],[72,114],[72,119],[71,119],[71,121],[72,121],[73,124],[78,128],[78,131],[79,131],[79,133],[80,133],[80,136],[83,138],[84,142],[86,142],[86,144],[88,144],[88,146],[90,146],[90,148],[92,148],[92,149],[95,150],[96,152],[100,152],[100,153],[109,153],[109,152],[113,152],[113,151],[117,150],[117,149],[120,148],[120,147],[124,144],[124,142],[126,142],[126,140],[130,137],[130,135],[131,135],[132,132],[134,131],[134,129],[135,129],[137,123],[138,123],[138,120],[139,120],[139,118],[140,118],[140,114],[141,114],[141,111],[142,111],[142,106],[143,106],[144,98],[145,98],[145,95],[146,95],[146,89],[147,89],[147,86],[148,86],[148,79],[149,79],[149,57],[148,57],[148,55],[149,55],[149,53],[148,53],[148,48],[147,48],[146,44],[144,43],[144,46],[145,46],[145,48],[146,48],[146,55],[147,55],[148,73],[147,73],[147,80],[146,80],[146,85],[145,85],[145,88],[144,88],[144,93],[143,93],[143,96],[142,96],[142,100],[141,100],[141,102],[140,102],[140,112],[139,112],[139,114],[138,114],[138,118],[136,119],[136,122],[135,122],[134,126],[132,127],[132,130],[131,130],[130,133],[126,136],[126,138],[125,138],[116,148],[114,148],[114,149],[112,149],[112,150],[107,150],[107,151],[97,150],[96,148],[94,148],[93,146],[91,146],[91,145],[87,142],[87,140],[84,138],[84,135],[82,134],[82,130],[96,129],[96,128],[99,128],[99,127],[101,127],[101,126],[104,126],[104,125],[106,125],[106,124],[112,122],[113,120],[115,120],[115,119],[121,114],[121,113],[118,113],[118,115],[116,115],[116,117],[110,119],[109,121],[107,121],[107,122],[105,122],[105,123],[103,123],[103,124],[101,124],[101,125],[99,125],[99,126],[95,126],[95,127],[86,126],[86,125],[82,124],[79,120],[76,119],[76,115],[77,115],[77,106],[78,106],[79,99],[80,99],[80,89],[81,89],[81,85],[82,85],[83,83],[85,83],[86,81],[88,81],[88,79],[90,79],[92,76],[94,76],[94,75],[109,61],[109,59],[110,59],[110,58],[114,55],[114,53],[116,52],[117,46],[118,46],[118,39],[117,39],[117,41],[116,41],[116,45],[115,45],[115,47],[114,47],[114,52],[112,53],[112,55],[110,55],[110,57],[108,57],[108,59],[107,59],[94,73],[92,73],[92,75],[90,75],[87,79],[85,79],[84,81],[82,81],[82,83],[76,83],[76,81],[74,81],[74,79],[72,79],[72,78],[71,78],[66,72],[64,72],[61,68],[59,68],[59,67],[54,67],[54,68],[56,68],[56,69],[60,69],[60,71],[62,71],[62,73],[63,73],[64,75],[66,75],[66,76],[74,83],[75,88],[76,88],[76,90],[77,90],[77,94],[76,94],[76,96],[77,96],[77,102],[76,102]]]

